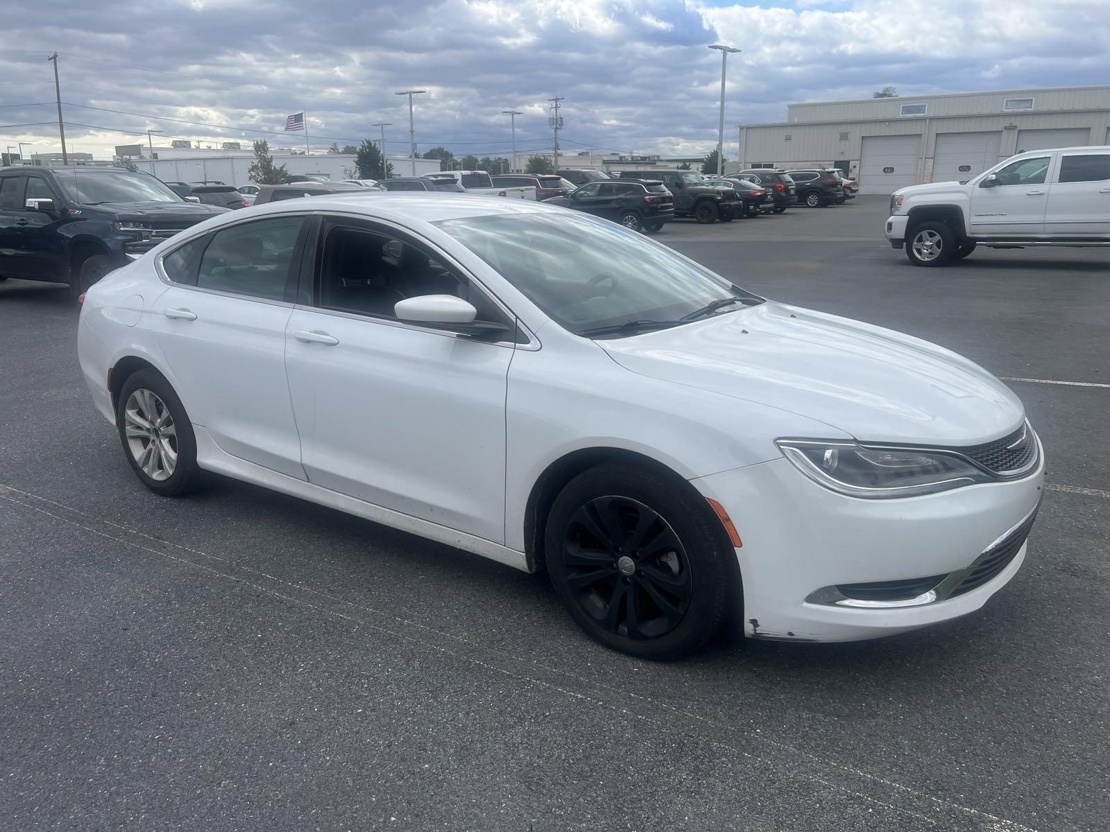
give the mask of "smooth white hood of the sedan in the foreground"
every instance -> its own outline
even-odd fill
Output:
[[[862,442],[977,445],[1025,415],[1001,382],[948,349],[771,302],[597,344],[634,373],[797,413]]]

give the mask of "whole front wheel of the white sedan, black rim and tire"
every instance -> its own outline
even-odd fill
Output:
[[[740,602],[736,554],[686,483],[608,463],[555,498],[547,572],[571,617],[606,647],[643,659],[686,656]]]

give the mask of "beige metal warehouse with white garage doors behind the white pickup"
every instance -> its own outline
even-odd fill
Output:
[[[745,168],[839,168],[860,193],[966,180],[1015,153],[1110,144],[1110,87],[788,104],[740,128]]]

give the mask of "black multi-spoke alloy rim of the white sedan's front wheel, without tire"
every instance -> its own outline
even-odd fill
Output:
[[[585,504],[571,517],[559,555],[578,605],[616,636],[658,638],[689,609],[686,549],[643,503],[608,495]]]

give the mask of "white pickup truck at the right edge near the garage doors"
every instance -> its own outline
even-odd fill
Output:
[[[890,196],[887,240],[917,266],[977,245],[1110,246],[1110,146],[1028,151],[967,182],[902,187]]]

